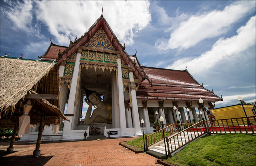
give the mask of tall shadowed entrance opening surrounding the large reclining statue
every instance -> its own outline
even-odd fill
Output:
[[[81,100],[83,100],[82,109],[80,110],[79,114],[80,117],[77,119],[78,123],[75,126],[74,130],[86,130],[88,127],[89,129],[97,129],[98,132],[90,131],[93,134],[103,134],[105,126],[108,129],[112,129],[112,79],[113,77],[116,77],[116,72],[112,70],[102,70],[101,67],[94,68],[92,67],[84,67],[81,68],[81,76],[80,76],[80,90],[82,91],[83,97]],[[91,108],[91,114],[88,114],[87,111],[90,111],[89,104],[86,103],[89,102],[87,100],[86,96],[86,88],[89,91],[95,91],[98,93],[99,98],[102,100],[102,102],[105,104],[105,106],[110,110],[109,117],[104,117],[103,114],[101,114],[101,111],[97,111],[97,106],[92,106]],[[87,93],[89,93],[87,91]],[[85,101],[86,100],[86,101]],[[97,112],[94,112],[96,110]],[[95,114],[93,116],[93,114]],[[90,115],[90,120],[88,120]],[[92,119],[93,118],[93,119]],[[91,133],[90,133],[91,134]]]

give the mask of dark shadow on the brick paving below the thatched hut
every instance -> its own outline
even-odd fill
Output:
[[[32,157],[32,155],[5,157],[7,154],[6,150],[1,150],[0,165],[45,165],[53,157],[44,157],[42,155],[40,157]]]

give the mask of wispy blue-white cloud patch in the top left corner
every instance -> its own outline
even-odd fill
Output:
[[[38,23],[33,24],[33,3],[32,1],[6,1],[10,7],[1,8],[1,11],[7,15],[7,17],[14,23],[11,26],[12,29],[21,29],[28,35],[35,35],[39,38],[44,38],[44,35],[40,34],[41,25]]]

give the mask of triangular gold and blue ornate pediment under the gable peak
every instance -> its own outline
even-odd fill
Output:
[[[93,37],[91,37],[91,39],[88,42],[86,42],[83,46],[117,51],[116,48],[114,48],[114,46],[110,42],[108,36],[106,35],[102,27],[99,28],[99,30],[93,35]]]

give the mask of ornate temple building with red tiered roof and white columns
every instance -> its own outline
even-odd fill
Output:
[[[103,15],[79,39],[70,40],[68,47],[51,42],[41,58],[57,59],[59,65],[59,106],[64,113],[67,103],[65,116],[70,120],[60,124],[63,140],[83,139],[90,126],[99,127],[105,136],[108,131],[113,131],[111,137],[139,136],[141,119],[144,133],[153,133],[153,123],[159,116],[165,119],[164,124],[187,122],[187,108],[189,123],[192,119],[198,122],[195,108],[202,111],[201,119],[209,120],[207,111],[212,113],[214,103],[222,101],[187,69],[143,67],[136,54],[128,55]],[[85,96],[89,113],[80,121]],[[90,116],[92,107],[96,108]],[[21,140],[33,140],[36,130],[31,129]],[[45,127],[43,134],[53,134],[53,127]]]

